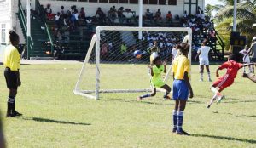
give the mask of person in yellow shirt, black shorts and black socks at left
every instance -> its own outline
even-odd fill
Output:
[[[9,97],[7,103],[6,117],[21,116],[15,110],[15,97],[17,89],[21,85],[20,82],[20,53],[17,49],[20,43],[20,37],[15,31],[9,31],[10,45],[5,48],[3,65],[5,67],[4,77],[6,80],[7,88],[9,88]]]

